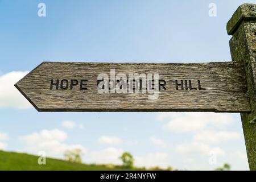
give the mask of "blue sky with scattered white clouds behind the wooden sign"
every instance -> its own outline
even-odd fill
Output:
[[[40,2],[46,17],[38,16]],[[0,0],[0,147],[57,158],[81,147],[89,163],[118,163],[129,151],[138,166],[248,169],[239,114],[39,113],[13,84],[42,61],[230,61],[226,23],[253,2]]]

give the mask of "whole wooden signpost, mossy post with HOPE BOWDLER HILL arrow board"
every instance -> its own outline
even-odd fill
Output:
[[[38,111],[241,113],[256,170],[256,5],[241,5],[227,30],[232,62],[43,62],[15,86]]]

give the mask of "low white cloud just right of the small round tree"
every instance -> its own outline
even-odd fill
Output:
[[[170,163],[168,163],[168,154],[163,152],[156,152],[146,154],[144,156],[135,156],[135,166],[138,167],[168,167]]]

